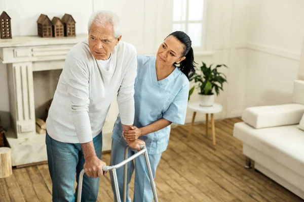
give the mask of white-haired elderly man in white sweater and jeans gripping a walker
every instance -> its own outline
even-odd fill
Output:
[[[82,169],[82,201],[96,201],[99,177],[105,174],[101,130],[117,92],[124,130],[133,125],[136,49],[121,41],[119,18],[113,13],[94,13],[88,31],[88,40],[67,55],[47,118],[53,201],[75,200],[75,173],[78,181]],[[138,143],[130,146],[139,149]]]

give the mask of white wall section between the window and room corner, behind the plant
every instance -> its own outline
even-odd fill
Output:
[[[212,41],[214,55],[197,59],[199,62],[203,60],[207,65],[216,63],[229,67],[222,68],[228,83],[215,98],[215,102],[223,105],[223,112],[215,115],[215,118],[237,117],[244,109],[248,3],[243,0],[214,0],[212,3],[212,11],[209,11],[212,16],[208,20],[208,28],[212,32],[208,40]],[[191,100],[199,99],[197,92],[192,96]],[[192,112],[189,111],[187,122],[191,121],[191,116]],[[199,116],[198,121],[205,119],[205,115]]]

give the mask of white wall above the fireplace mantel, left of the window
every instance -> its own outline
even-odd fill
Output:
[[[87,33],[87,23],[92,12],[110,10],[118,14],[121,19],[123,40],[134,44],[139,53],[146,54],[155,48],[155,42],[168,34],[168,21],[162,20],[167,14],[164,7],[170,1],[147,0],[1,0],[7,13],[12,18],[12,35],[37,35],[37,19],[40,14],[46,14],[50,20],[61,18],[65,13],[71,14],[76,21],[76,32]],[[60,6],[58,6],[60,5]],[[72,5],[72,6],[71,6]],[[164,13],[164,14],[162,14]],[[169,21],[170,23],[170,21]],[[156,26],[157,24],[163,26]],[[161,30],[161,31],[160,31]],[[150,32],[150,34],[149,34]],[[155,33],[158,33],[156,35]],[[158,37],[157,37],[158,36]],[[148,49],[146,47],[148,43]],[[151,45],[153,44],[153,45]]]

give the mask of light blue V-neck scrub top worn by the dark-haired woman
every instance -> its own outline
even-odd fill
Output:
[[[135,79],[135,118],[134,126],[141,128],[165,118],[176,124],[184,124],[189,92],[189,80],[178,69],[165,79],[158,81],[156,57],[137,57],[137,77]],[[148,154],[154,155],[166,150],[169,143],[171,126],[159,131],[142,135]],[[127,144],[122,136],[120,116],[115,122],[112,138]]]

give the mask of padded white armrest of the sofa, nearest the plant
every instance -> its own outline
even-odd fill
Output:
[[[301,104],[249,107],[242,119],[254,128],[267,128],[298,124],[303,113],[304,105]]]

